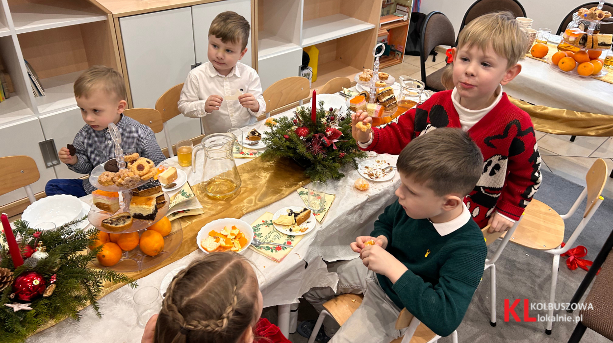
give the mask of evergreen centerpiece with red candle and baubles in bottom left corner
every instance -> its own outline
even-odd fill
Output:
[[[45,231],[34,230],[27,222],[17,220],[12,230],[6,214],[2,214],[0,342],[25,342],[48,322],[67,317],[78,320],[80,309],[88,304],[100,316],[96,300],[105,283],[125,282],[136,287],[123,274],[89,268],[101,246],[94,246],[95,228],[77,228],[84,219]]]

